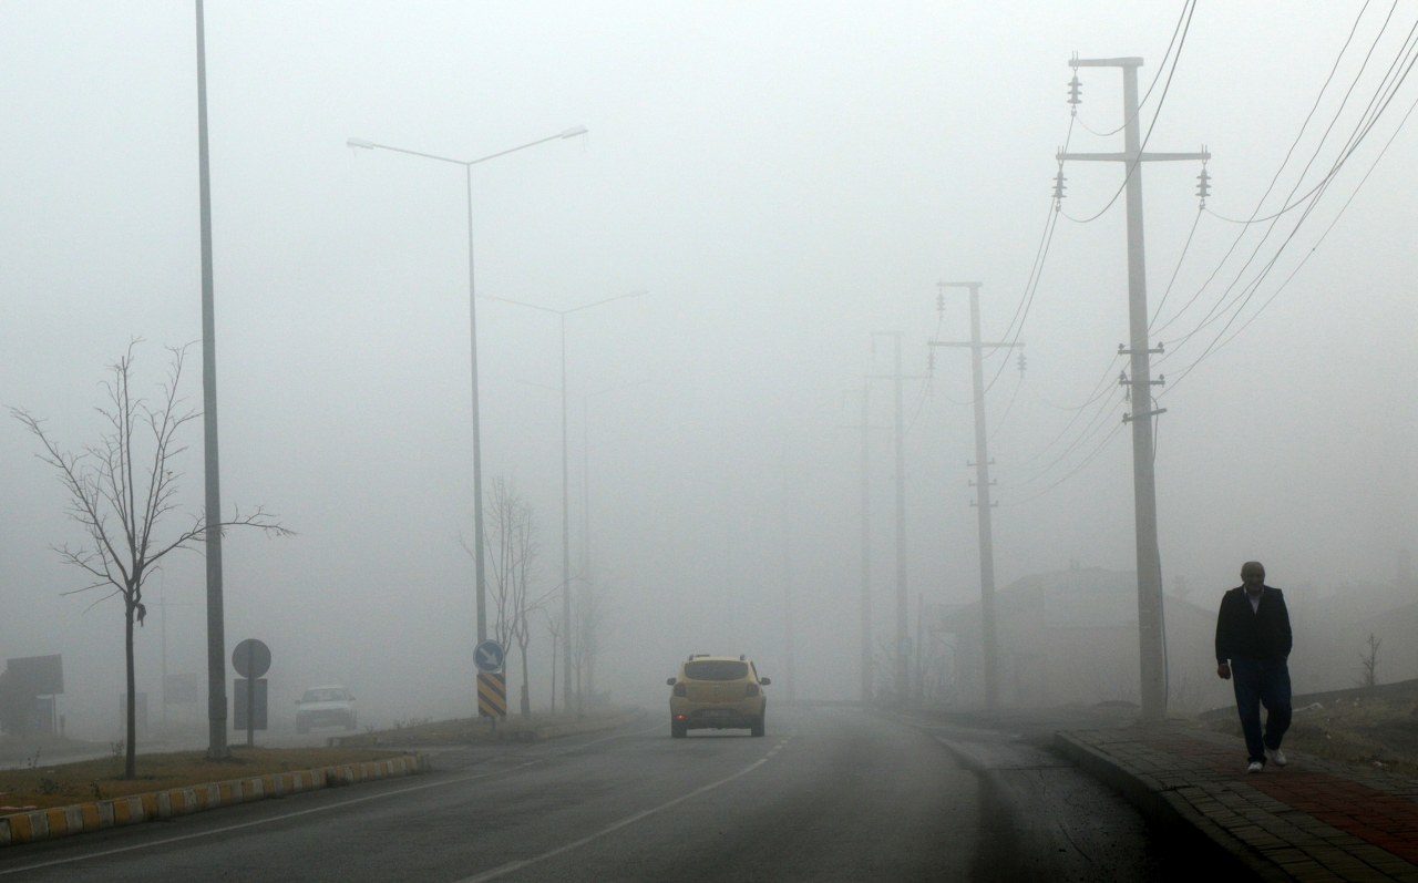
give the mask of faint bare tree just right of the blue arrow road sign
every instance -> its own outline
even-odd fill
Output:
[[[496,609],[493,638],[503,648],[518,645],[522,665],[520,713],[532,713],[527,646],[532,642],[532,611],[545,601],[530,594],[539,547],[532,506],[505,478],[492,483],[488,532],[488,563],[492,570],[492,602]]]

